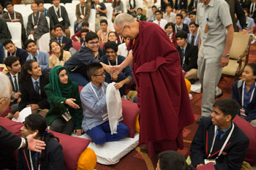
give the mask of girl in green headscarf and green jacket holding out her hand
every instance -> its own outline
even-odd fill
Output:
[[[81,123],[83,110],[78,90],[78,83],[72,82],[64,66],[55,66],[50,70],[50,83],[45,86],[50,110],[45,117],[50,130],[62,134],[78,136],[83,132]]]

